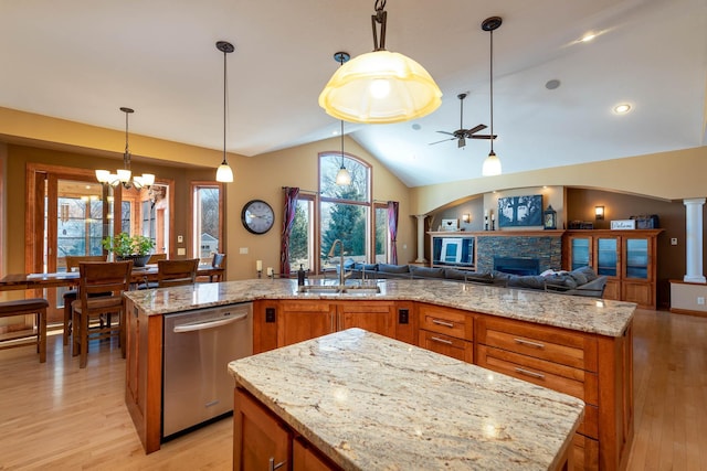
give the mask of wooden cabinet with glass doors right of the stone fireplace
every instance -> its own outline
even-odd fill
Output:
[[[608,277],[604,298],[656,306],[657,236],[662,229],[567,231],[563,267],[592,267]]]

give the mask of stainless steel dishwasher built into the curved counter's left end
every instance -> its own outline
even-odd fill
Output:
[[[165,315],[162,438],[233,410],[229,362],[253,354],[253,304]]]

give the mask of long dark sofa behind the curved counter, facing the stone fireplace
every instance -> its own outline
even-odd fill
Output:
[[[547,270],[540,275],[478,272],[418,265],[359,264],[354,260],[348,260],[344,267],[351,274],[350,278],[355,279],[442,279],[592,298],[601,298],[606,287],[606,276],[597,275],[591,267],[580,267],[572,271]]]

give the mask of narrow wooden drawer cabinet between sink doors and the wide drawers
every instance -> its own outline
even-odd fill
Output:
[[[457,309],[419,304],[418,345],[442,355],[474,362],[474,320]]]

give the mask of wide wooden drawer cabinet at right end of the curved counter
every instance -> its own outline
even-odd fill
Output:
[[[584,400],[578,470],[622,469],[633,436],[632,331],[618,339],[478,315],[476,364]]]

